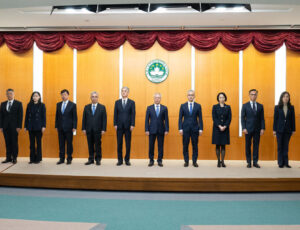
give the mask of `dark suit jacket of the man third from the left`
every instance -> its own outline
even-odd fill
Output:
[[[62,101],[56,104],[55,128],[60,131],[71,131],[77,128],[76,104],[69,101],[64,114],[61,112]]]

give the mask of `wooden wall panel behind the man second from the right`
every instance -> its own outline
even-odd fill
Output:
[[[275,53],[265,54],[252,45],[244,51],[243,103],[249,101],[249,90],[258,90],[257,102],[264,105],[266,132],[260,139],[260,160],[275,160],[273,114],[275,105]]]

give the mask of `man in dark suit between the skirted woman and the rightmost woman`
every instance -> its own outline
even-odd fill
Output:
[[[243,104],[241,123],[246,139],[247,168],[251,168],[251,142],[253,139],[253,166],[260,168],[258,162],[259,140],[265,131],[264,107],[256,102],[258,91],[249,91],[250,101]]]

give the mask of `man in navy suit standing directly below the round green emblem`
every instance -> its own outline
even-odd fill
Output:
[[[154,105],[146,111],[145,132],[149,136],[149,167],[154,165],[154,144],[158,143],[158,166],[163,167],[164,137],[169,132],[168,108],[160,104],[161,94],[154,94]]]

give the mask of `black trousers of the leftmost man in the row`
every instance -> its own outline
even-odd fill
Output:
[[[6,145],[6,159],[11,161],[18,157],[18,132],[15,128],[8,128],[3,130],[3,135]]]

